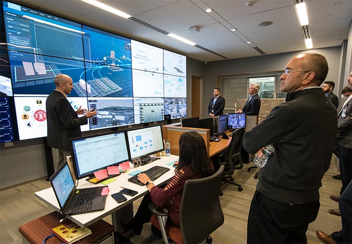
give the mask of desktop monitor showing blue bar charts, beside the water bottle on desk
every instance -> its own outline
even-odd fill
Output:
[[[127,139],[132,160],[164,150],[161,125],[128,130]]]

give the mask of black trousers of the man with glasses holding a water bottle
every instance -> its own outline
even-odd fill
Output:
[[[308,224],[316,219],[319,207],[319,200],[284,203],[256,191],[249,210],[247,243],[307,243]]]

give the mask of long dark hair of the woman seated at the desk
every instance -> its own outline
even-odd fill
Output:
[[[198,132],[183,133],[178,141],[179,161],[176,171],[190,167],[199,177],[204,178],[213,174],[205,142]]]

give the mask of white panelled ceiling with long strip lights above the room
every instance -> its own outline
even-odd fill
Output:
[[[10,0],[38,11],[106,30],[203,61],[242,58],[306,49],[295,0],[100,0],[133,18],[186,38],[210,51],[189,46],[129,19],[80,0]],[[299,0],[301,1],[301,0]],[[205,13],[206,8],[214,11]],[[352,0],[307,0],[313,48],[340,46],[348,39]],[[265,27],[258,23],[271,21]],[[187,29],[198,26],[199,32]],[[229,29],[237,28],[231,32]],[[252,44],[246,44],[251,41]],[[223,57],[221,57],[223,56]]]

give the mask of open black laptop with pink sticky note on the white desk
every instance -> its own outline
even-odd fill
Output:
[[[105,208],[107,186],[77,189],[67,162],[51,177],[50,183],[64,215],[83,214]]]

